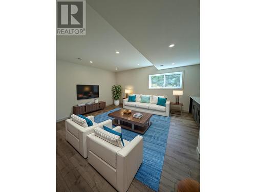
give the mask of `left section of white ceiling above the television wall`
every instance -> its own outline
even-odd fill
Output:
[[[115,72],[153,66],[88,4],[86,29],[86,36],[57,36],[57,59]]]

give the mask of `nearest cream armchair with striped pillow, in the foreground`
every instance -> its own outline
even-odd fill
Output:
[[[113,130],[121,133],[120,126]],[[127,191],[143,159],[142,136],[123,142],[120,148],[94,133],[87,136],[88,162],[119,192]]]

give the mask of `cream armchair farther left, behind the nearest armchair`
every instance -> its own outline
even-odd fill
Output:
[[[92,126],[83,127],[72,119],[67,119],[66,124],[66,139],[67,141],[84,157],[88,157],[87,152],[87,136],[94,133],[95,127],[100,127],[103,129],[103,125],[112,128],[112,120],[106,120],[101,123],[94,122],[94,116],[88,116],[87,118],[91,119],[93,122]]]

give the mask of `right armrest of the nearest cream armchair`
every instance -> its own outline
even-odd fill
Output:
[[[118,191],[126,191],[142,163],[143,137],[136,136],[116,154],[117,189]]]

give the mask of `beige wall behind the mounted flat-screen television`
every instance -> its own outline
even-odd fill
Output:
[[[46,77],[47,78],[47,77]],[[97,68],[57,60],[57,120],[72,115],[72,106],[94,99],[76,99],[76,84],[99,85],[99,100],[113,103],[111,87],[116,83],[115,73]]]

